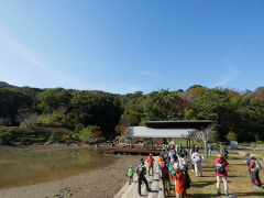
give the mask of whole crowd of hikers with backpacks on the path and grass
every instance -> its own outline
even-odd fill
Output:
[[[209,144],[208,146],[209,156],[212,156],[212,145]],[[224,194],[228,198],[235,198],[233,195],[229,195],[229,187],[228,187],[228,173],[227,166],[229,165],[227,158],[228,151],[226,150],[222,144],[220,144],[220,151],[218,157],[213,161],[216,166],[216,176],[217,176],[217,194],[221,195],[220,193],[220,183],[221,179],[223,180],[224,185]],[[262,183],[258,176],[258,170],[262,169],[261,164],[254,158],[254,156],[250,154],[245,154],[248,161],[244,161],[246,166],[249,167],[249,174],[251,178],[251,185],[254,185],[256,189],[262,188]],[[188,174],[188,162],[190,161],[191,164],[191,172],[195,172],[196,177],[202,177],[202,162],[205,157],[198,152],[198,147],[193,146],[191,148],[183,148],[182,144],[174,145],[174,144],[163,144],[162,153],[157,158],[157,166],[160,172],[160,179],[163,185],[163,195],[169,196],[170,193],[170,179],[174,180],[175,184],[175,193],[176,198],[186,198],[187,197],[187,189],[190,188],[190,177]],[[148,167],[148,175],[154,175],[154,158],[152,154],[146,160],[147,167]],[[148,187],[147,180],[145,175],[147,174],[147,169],[144,166],[144,160],[141,158],[139,166],[135,169],[138,174],[138,191],[141,196],[141,186],[142,183],[145,184],[147,191],[151,191]],[[129,169],[129,184],[133,183],[133,167]]]

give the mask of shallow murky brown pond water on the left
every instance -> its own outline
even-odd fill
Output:
[[[0,189],[63,179],[108,166],[116,157],[99,151],[0,151]]]

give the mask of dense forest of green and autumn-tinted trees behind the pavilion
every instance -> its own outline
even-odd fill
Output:
[[[123,133],[144,121],[217,120],[215,141],[264,139],[264,87],[254,91],[207,88],[161,89],[143,95],[98,90],[15,87],[0,81],[0,125],[62,127],[94,135]],[[92,128],[91,128],[92,127]],[[95,130],[98,129],[98,130]]]

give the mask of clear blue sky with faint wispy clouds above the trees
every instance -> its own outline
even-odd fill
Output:
[[[0,80],[128,94],[263,85],[263,0],[0,0]]]

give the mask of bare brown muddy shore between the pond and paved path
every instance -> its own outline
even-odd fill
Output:
[[[74,147],[74,146],[73,146]],[[73,147],[67,150],[72,150]],[[26,147],[23,147],[28,150]],[[22,148],[22,150],[23,150]],[[36,146],[37,151],[59,151],[65,147]],[[95,148],[95,146],[76,146],[76,148]],[[102,146],[101,146],[102,148]],[[32,147],[29,150],[32,151]],[[1,198],[110,198],[113,197],[128,182],[128,169],[130,165],[136,167],[142,156],[122,155],[117,161],[97,170],[68,177],[61,180],[41,183],[32,186],[0,189]],[[144,156],[144,160],[146,156]]]

